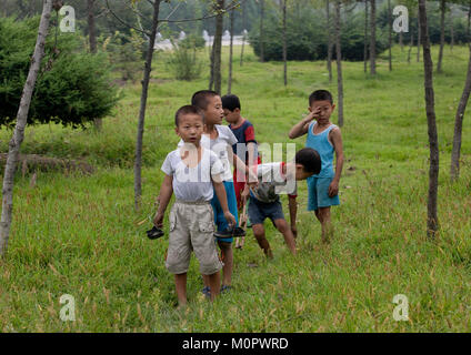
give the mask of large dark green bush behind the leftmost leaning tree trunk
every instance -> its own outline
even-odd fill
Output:
[[[39,18],[26,21],[0,19],[0,124],[16,121],[30,59],[34,50]],[[34,88],[28,124],[62,123],[73,128],[108,115],[117,91],[110,85],[107,58],[83,52],[72,33],[47,39],[46,55]]]

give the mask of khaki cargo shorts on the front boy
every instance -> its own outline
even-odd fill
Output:
[[[200,262],[200,272],[212,275],[222,268],[214,242],[214,216],[210,202],[177,201],[170,212],[170,237],[166,266],[174,275],[186,274],[191,252]]]

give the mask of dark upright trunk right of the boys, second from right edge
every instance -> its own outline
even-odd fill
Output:
[[[433,63],[430,53],[429,30],[427,23],[425,0],[419,0],[419,17],[423,47],[423,67],[424,67],[424,87],[425,87],[425,106],[427,106],[427,123],[429,128],[429,144],[430,144],[430,172],[429,172],[429,199],[428,199],[428,221],[427,234],[429,237],[434,237],[438,232],[439,221],[437,215],[437,200],[439,189],[439,140],[437,133],[437,119],[434,109],[434,92],[433,92]]]

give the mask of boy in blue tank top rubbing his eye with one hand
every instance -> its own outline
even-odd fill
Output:
[[[340,129],[330,122],[334,111],[332,94],[327,90],[314,91],[309,97],[309,115],[294,125],[290,139],[308,134],[305,146],[319,152],[322,170],[308,179],[308,210],[314,211],[322,225],[322,242],[328,243],[333,234],[330,207],[340,204],[339,183],[343,169],[343,143]],[[333,155],[337,163],[333,168]]]

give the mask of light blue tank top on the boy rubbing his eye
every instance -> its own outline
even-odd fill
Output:
[[[333,170],[333,149],[332,143],[329,141],[329,133],[337,128],[335,124],[331,124],[325,131],[319,134],[314,134],[314,126],[317,122],[312,122],[309,125],[308,140],[305,142],[307,148],[312,148],[318,151],[322,160],[322,170],[319,175],[313,178],[333,178],[335,172]]]

